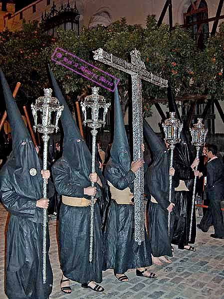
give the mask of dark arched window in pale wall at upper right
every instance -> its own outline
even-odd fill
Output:
[[[189,6],[187,13],[184,13],[185,24],[192,25],[192,34],[200,49],[204,48],[205,42],[209,37],[209,23],[201,21],[209,18],[208,5],[205,0],[196,0]],[[197,23],[198,22],[198,23]]]

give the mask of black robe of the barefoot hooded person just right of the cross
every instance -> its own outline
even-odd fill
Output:
[[[175,221],[175,207],[171,213],[170,235],[168,233],[169,201],[169,166],[170,155],[168,150],[158,151],[154,155],[154,161],[147,170],[145,177],[145,193],[147,198],[151,195],[158,203],[149,202],[149,239],[154,257],[172,256],[171,240],[173,236],[173,223]],[[172,202],[175,202],[174,187],[179,183],[176,176],[173,177]]]

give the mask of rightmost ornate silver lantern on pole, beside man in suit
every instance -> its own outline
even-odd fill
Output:
[[[199,158],[200,148],[204,146],[205,141],[206,141],[206,136],[208,134],[208,129],[205,129],[205,125],[202,122],[203,122],[203,119],[198,118],[198,123],[195,124],[192,129],[190,129],[191,136],[192,136],[192,144],[194,146],[196,146],[196,150],[197,150],[196,159]],[[195,170],[197,170],[197,169],[198,169],[198,166],[196,166]],[[197,181],[197,176],[195,176],[193,196],[192,196],[192,210],[191,210],[189,241],[191,240],[191,235],[192,235],[193,214],[194,214],[194,207],[195,207],[196,181]]]

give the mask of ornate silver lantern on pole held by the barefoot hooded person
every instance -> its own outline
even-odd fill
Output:
[[[170,168],[173,167],[173,158],[174,158],[174,149],[175,144],[179,143],[181,131],[183,129],[183,124],[181,124],[179,119],[175,118],[175,112],[170,112],[170,118],[165,120],[163,126],[163,130],[165,133],[165,142],[170,145]],[[171,196],[172,196],[172,175],[169,176],[170,180],[170,186],[169,186],[169,201],[171,202]],[[168,231],[170,234],[170,215],[171,213],[168,213]]]

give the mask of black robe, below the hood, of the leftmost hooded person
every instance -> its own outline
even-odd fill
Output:
[[[47,299],[53,282],[48,256],[48,226],[46,283],[43,285],[43,209],[36,207],[36,200],[40,198],[21,195],[15,188],[14,177],[11,175],[13,171],[13,159],[9,158],[0,172],[0,198],[10,212],[6,241],[5,293],[9,299]]]

